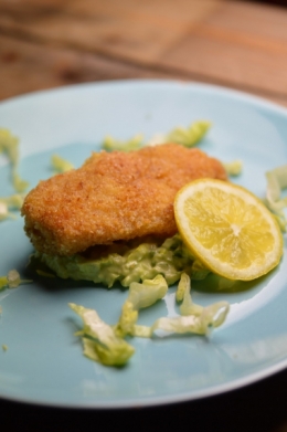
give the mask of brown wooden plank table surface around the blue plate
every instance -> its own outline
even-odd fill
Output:
[[[0,0],[0,99],[118,78],[227,86],[287,106],[287,8],[227,0]],[[1,119],[0,119],[1,120]],[[287,372],[195,402],[65,411],[0,401],[1,431],[287,431]],[[153,415],[151,418],[151,415]]]

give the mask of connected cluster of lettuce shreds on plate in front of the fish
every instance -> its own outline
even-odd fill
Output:
[[[192,302],[190,289],[190,277],[182,273],[176,294],[177,301],[182,302],[181,315],[161,317],[151,326],[138,325],[137,320],[141,308],[149,307],[166,296],[168,284],[161,275],[146,280],[141,284],[130,284],[128,297],[115,326],[104,323],[94,309],[70,304],[84,322],[83,330],[76,333],[83,338],[84,355],[103,365],[119,366],[127,362],[135,352],[135,349],[125,341],[126,336],[152,338],[158,330],[179,335],[209,335],[211,328],[224,323],[230,306],[226,302],[206,307],[196,305]]]

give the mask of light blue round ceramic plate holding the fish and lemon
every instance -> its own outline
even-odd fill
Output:
[[[52,175],[55,152],[81,166],[107,134],[127,139],[142,133],[148,139],[196,119],[213,124],[202,150],[222,161],[242,159],[244,171],[235,181],[263,197],[265,171],[287,161],[287,112],[262,99],[208,85],[126,81],[0,104],[0,127],[20,138],[20,172],[31,187]],[[2,158],[0,197],[10,193]],[[0,223],[0,275],[17,268],[28,276],[32,252],[20,215]],[[136,354],[121,369],[83,356],[74,336],[79,322],[67,303],[96,308],[114,324],[127,292],[33,275],[33,283],[0,292],[0,348],[8,347],[0,349],[0,396],[60,407],[140,407],[203,398],[267,377],[287,366],[286,274],[285,253],[274,272],[230,293],[212,281],[194,283],[194,302],[230,302],[227,322],[209,338],[135,338]],[[164,301],[142,310],[140,322],[174,313],[170,288]]]

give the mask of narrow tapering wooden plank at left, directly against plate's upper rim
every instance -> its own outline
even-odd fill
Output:
[[[172,76],[177,77],[96,54],[0,35],[0,99],[83,82]]]

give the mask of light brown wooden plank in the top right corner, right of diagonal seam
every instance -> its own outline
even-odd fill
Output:
[[[287,95],[287,10],[228,2],[159,62],[251,91]]]

